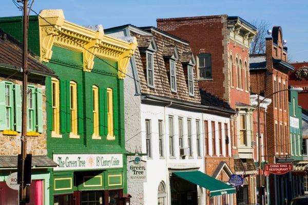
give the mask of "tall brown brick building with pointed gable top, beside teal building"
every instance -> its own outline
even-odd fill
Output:
[[[288,64],[287,48],[283,45],[280,26],[273,27],[272,35],[266,38],[266,53],[251,55],[251,89],[255,94],[272,100],[267,107],[265,144],[268,163],[292,161],[290,157],[290,139],[288,128],[288,92],[273,92],[288,88],[287,73],[294,67]],[[269,176],[271,204],[282,204],[287,193],[287,177]]]

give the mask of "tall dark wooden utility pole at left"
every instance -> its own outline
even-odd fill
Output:
[[[26,204],[26,184],[25,184],[25,159],[27,156],[27,96],[28,96],[28,0],[24,0],[23,16],[23,114],[22,114],[22,136],[21,136],[21,183],[20,183],[20,204]]]

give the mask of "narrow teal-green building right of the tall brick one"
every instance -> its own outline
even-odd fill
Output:
[[[291,86],[292,88],[292,86]],[[290,153],[293,160],[293,172],[288,173],[286,183],[291,189],[288,189],[288,200],[293,197],[303,195],[303,176],[305,175],[305,166],[307,162],[303,161],[302,156],[302,108],[298,105],[298,92],[290,90],[288,102],[289,110],[289,133],[290,133]]]

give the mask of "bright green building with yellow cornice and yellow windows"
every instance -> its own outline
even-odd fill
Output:
[[[12,29],[19,17],[0,19]],[[55,72],[46,79],[50,204],[122,204],[127,196],[123,78],[136,49],[67,22],[62,10],[29,21],[29,49]],[[48,197],[48,196],[46,196]]]

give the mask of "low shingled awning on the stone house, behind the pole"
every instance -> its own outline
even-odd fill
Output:
[[[32,156],[33,168],[56,167],[58,164],[47,156]],[[0,156],[0,169],[16,169],[17,155]]]

